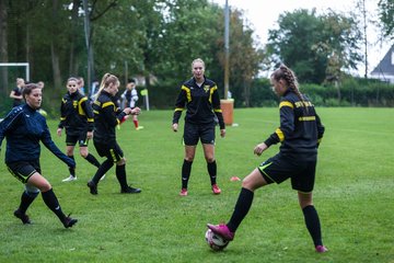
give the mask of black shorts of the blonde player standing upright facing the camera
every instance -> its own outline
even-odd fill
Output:
[[[205,145],[215,145],[215,123],[198,125],[185,122],[184,144],[186,146],[196,146],[198,140]]]

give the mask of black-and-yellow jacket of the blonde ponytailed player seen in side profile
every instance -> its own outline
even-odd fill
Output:
[[[116,98],[102,91],[93,103],[94,136],[99,142],[111,142],[116,139],[115,127],[121,123],[126,113],[120,111]]]

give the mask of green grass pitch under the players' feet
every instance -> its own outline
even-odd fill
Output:
[[[142,188],[139,195],[120,195],[112,169],[92,196],[85,184],[95,169],[79,156],[78,181],[62,183],[66,164],[43,148],[43,173],[62,209],[79,219],[74,228],[63,229],[40,197],[28,209],[34,224],[23,226],[12,215],[23,186],[0,165],[0,262],[394,262],[394,108],[317,110],[326,135],[314,203],[326,254],[314,252],[289,182],[256,192],[223,252],[212,252],[205,242],[206,224],[227,221],[232,213],[241,182],[230,178],[244,178],[277,152],[275,146],[263,157],[253,155],[278,126],[277,108],[235,110],[239,126],[217,138],[222,194],[211,194],[199,146],[187,197],[178,196],[182,133],[171,130],[172,111],[152,111],[139,117],[143,130],[136,132],[131,122],[118,130],[128,180]],[[56,125],[49,122],[54,140],[65,149]],[[90,150],[95,153],[93,145]]]

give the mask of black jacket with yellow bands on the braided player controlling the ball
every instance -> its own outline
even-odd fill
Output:
[[[316,158],[324,126],[311,101],[305,95],[303,100],[292,91],[283,94],[279,103],[280,127],[265,144],[269,147],[281,142],[280,153],[306,161]]]

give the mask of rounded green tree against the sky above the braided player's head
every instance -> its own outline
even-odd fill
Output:
[[[357,69],[362,58],[360,31],[352,18],[296,10],[281,14],[278,25],[279,30],[268,33],[267,52],[274,64],[287,64],[302,82],[338,80],[339,72]]]

